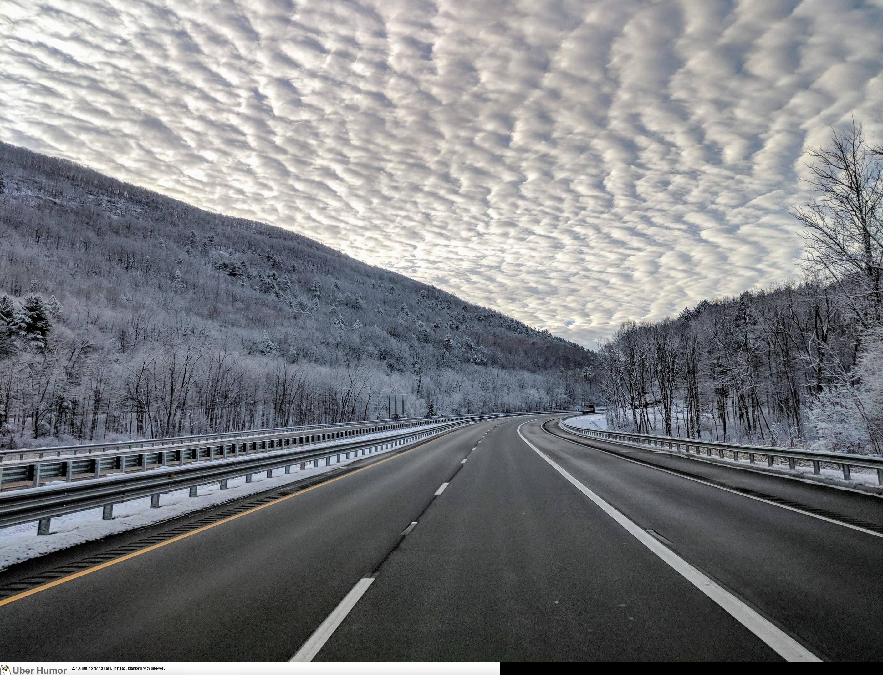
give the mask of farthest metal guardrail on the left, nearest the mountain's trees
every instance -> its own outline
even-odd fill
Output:
[[[554,410],[552,412],[555,412]],[[477,416],[493,417],[497,413],[482,413]],[[363,420],[361,422],[334,422],[328,424],[297,424],[294,426],[280,426],[270,429],[248,429],[245,431],[221,431],[219,433],[202,433],[195,436],[170,436],[162,439],[137,439],[129,441],[105,441],[102,443],[83,443],[76,446],[48,446],[48,447],[19,447],[14,449],[0,450],[0,462],[6,457],[19,455],[19,460],[24,460],[26,454],[36,454],[39,459],[46,457],[61,457],[67,454],[94,454],[97,452],[140,450],[148,447],[164,447],[180,443],[200,443],[208,440],[244,439],[257,434],[288,433],[295,431],[321,431],[339,430],[343,428],[357,429],[364,426],[377,426],[379,424],[400,424],[434,422],[447,419],[459,419],[462,417],[475,417],[476,415],[450,415],[434,417],[406,417],[401,419],[376,419]],[[311,434],[313,435],[313,434]]]

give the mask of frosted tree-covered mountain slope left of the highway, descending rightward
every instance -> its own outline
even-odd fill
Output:
[[[304,236],[0,144],[0,443],[571,405],[592,352]],[[37,439],[34,441],[33,439]]]

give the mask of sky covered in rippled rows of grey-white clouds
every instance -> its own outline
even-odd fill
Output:
[[[0,139],[592,346],[797,274],[883,0],[0,0]]]

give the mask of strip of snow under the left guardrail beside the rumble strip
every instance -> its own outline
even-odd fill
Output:
[[[419,431],[422,428],[416,427],[412,431]],[[371,434],[364,437],[364,439],[379,439],[384,435],[388,436],[389,431],[385,434]],[[317,446],[322,445],[326,444],[315,444],[310,446],[310,449],[313,450]],[[400,447],[394,446],[386,450],[380,450],[374,453],[373,456],[386,454]],[[28,522],[22,525],[14,525],[11,528],[0,529],[0,572],[6,567],[23,560],[37,558],[53,551],[62,551],[77,544],[101,539],[103,536],[115,535],[130,529],[143,528],[147,525],[154,525],[157,522],[168,521],[180,515],[200,511],[209,506],[223,504],[233,499],[241,499],[256,492],[271,490],[310,476],[326,473],[346,464],[351,464],[353,461],[357,461],[357,459],[362,459],[362,455],[359,455],[358,458],[353,457],[350,460],[341,458],[340,464],[336,463],[335,458],[332,458],[332,463],[328,467],[325,466],[324,461],[321,461],[319,467],[314,468],[308,465],[303,470],[299,468],[299,464],[294,464],[291,467],[291,474],[284,474],[283,469],[275,469],[275,475],[272,478],[268,478],[267,472],[262,471],[252,475],[252,483],[245,483],[245,476],[231,478],[227,482],[227,490],[222,491],[218,483],[208,484],[200,486],[199,496],[197,497],[190,497],[189,489],[164,492],[160,497],[159,508],[150,508],[149,497],[132,499],[132,501],[115,505],[114,517],[110,521],[102,520],[102,508],[100,507],[88,511],[80,511],[77,514],[61,515],[52,519],[50,534],[47,536],[37,536],[36,522]],[[104,476],[99,480],[112,479],[112,477]],[[42,490],[45,487],[43,485],[36,489]],[[2,580],[2,577],[0,577],[0,580]]]

